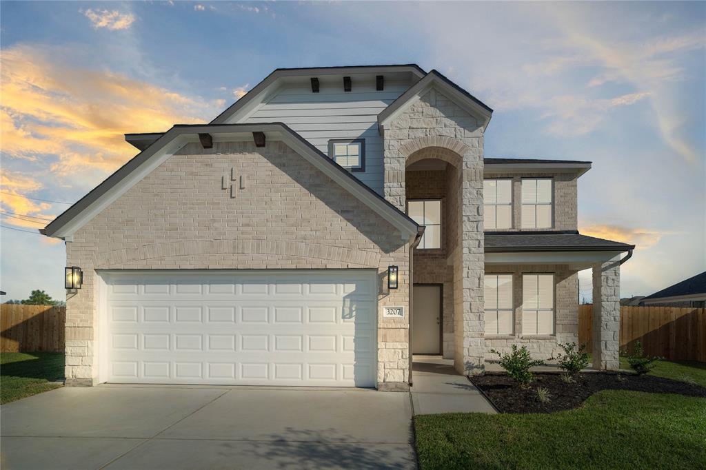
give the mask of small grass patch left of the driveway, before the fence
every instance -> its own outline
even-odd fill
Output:
[[[64,353],[0,353],[0,404],[53,390],[64,378]]]

